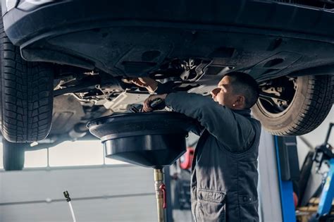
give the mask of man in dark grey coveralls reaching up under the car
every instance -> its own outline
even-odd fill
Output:
[[[151,78],[132,82],[151,93],[164,88]],[[143,110],[152,111],[150,102],[160,98],[203,127],[192,162],[194,221],[259,221],[256,187],[261,124],[250,116],[259,87],[250,75],[232,72],[221,79],[211,97],[187,92],[152,94]]]

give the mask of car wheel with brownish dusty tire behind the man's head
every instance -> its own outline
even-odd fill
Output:
[[[281,77],[268,82],[260,83],[260,97],[252,111],[273,135],[311,132],[322,123],[333,106],[333,75]],[[282,104],[285,101],[280,99],[286,103]]]

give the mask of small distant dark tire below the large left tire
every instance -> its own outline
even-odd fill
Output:
[[[25,165],[25,143],[13,143],[2,140],[5,171],[21,171]]]

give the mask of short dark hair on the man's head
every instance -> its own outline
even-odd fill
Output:
[[[250,109],[259,99],[259,85],[252,76],[242,72],[230,72],[225,74],[233,78],[231,85],[233,93],[242,94],[245,97],[245,108]]]

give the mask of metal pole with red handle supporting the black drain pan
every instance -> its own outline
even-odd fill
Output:
[[[156,207],[158,210],[158,222],[164,222],[165,221],[165,209],[164,209],[164,191],[161,189],[163,187],[163,173],[162,168],[154,168],[154,187],[156,190]],[[165,205],[166,207],[166,205]]]

